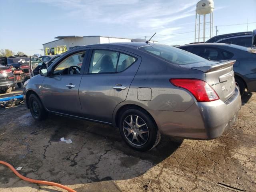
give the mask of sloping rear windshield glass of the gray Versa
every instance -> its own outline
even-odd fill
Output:
[[[205,61],[205,59],[200,56],[167,45],[148,45],[140,47],[139,49],[176,65]]]

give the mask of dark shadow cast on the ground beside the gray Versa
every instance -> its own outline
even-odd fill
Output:
[[[24,176],[64,185],[99,182],[111,188],[112,180],[127,180],[148,172],[183,142],[163,136],[156,148],[138,152],[129,148],[119,130],[111,126],[55,115],[37,122],[28,111],[20,115],[23,120],[11,120],[15,126],[10,132],[19,138],[15,146],[20,145],[23,151],[1,154],[0,159],[24,167],[20,170]],[[71,139],[72,144],[60,142],[62,137]],[[9,146],[9,150],[15,146]],[[8,177],[14,178],[12,173],[7,174],[5,184]]]

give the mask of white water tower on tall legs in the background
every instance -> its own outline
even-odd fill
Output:
[[[213,36],[213,10],[214,10],[214,2],[213,0],[200,0],[196,4],[196,26],[195,26],[195,42],[200,42],[200,40],[203,40],[205,42],[205,38],[211,38]],[[199,19],[197,20],[197,15]],[[201,15],[204,16],[204,22],[201,22]],[[206,17],[208,17],[206,22]],[[209,18],[210,17],[210,18]],[[203,32],[200,32],[200,26],[203,24]],[[207,28],[205,26],[207,25]],[[209,25],[209,27],[208,27]],[[196,35],[196,28],[198,27],[198,38]],[[207,29],[207,35],[206,36],[206,29]],[[209,32],[210,30],[210,32]]]

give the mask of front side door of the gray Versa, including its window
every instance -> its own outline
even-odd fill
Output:
[[[78,89],[87,54],[86,49],[70,52],[48,68],[49,75],[42,83],[43,103],[48,110],[81,115]]]

